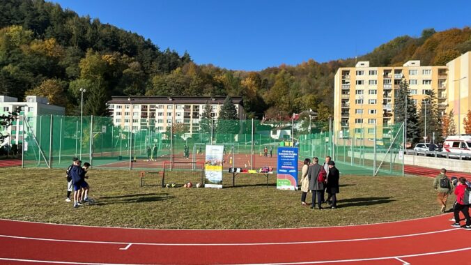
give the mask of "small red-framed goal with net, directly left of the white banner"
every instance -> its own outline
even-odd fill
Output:
[[[204,183],[203,162],[164,162],[162,174],[162,188],[167,184],[182,186],[185,183]]]

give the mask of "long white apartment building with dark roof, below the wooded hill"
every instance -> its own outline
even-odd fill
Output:
[[[150,128],[165,132],[172,123],[187,126],[189,132],[199,132],[199,121],[203,116],[205,105],[209,103],[215,119],[225,97],[166,97],[166,96],[114,96],[107,105],[115,126],[124,130],[139,131]],[[232,98],[239,119],[245,119],[241,97]]]

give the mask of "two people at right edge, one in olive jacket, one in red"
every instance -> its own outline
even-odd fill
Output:
[[[437,201],[440,204],[440,211],[445,213],[447,209],[447,199],[451,192],[456,195],[456,202],[453,204],[454,218],[451,221],[454,222],[452,227],[461,227],[460,224],[460,212],[465,217],[465,229],[471,229],[471,218],[470,218],[470,190],[471,183],[465,178],[452,177],[451,179],[447,176],[447,169],[442,168],[440,174],[435,177],[433,181],[433,188],[438,191]]]

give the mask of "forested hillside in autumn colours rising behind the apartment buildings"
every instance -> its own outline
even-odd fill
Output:
[[[156,40],[158,42],[158,40]],[[471,29],[401,36],[357,60],[371,66],[396,66],[410,59],[443,65],[471,50]],[[160,48],[143,36],[79,17],[72,10],[42,0],[0,2],[0,94],[24,98],[47,96],[76,114],[79,89],[87,89],[86,114],[106,115],[111,95],[243,96],[247,116],[283,119],[293,112],[332,113],[337,68],[355,59],[260,72],[196,65],[190,54]]]

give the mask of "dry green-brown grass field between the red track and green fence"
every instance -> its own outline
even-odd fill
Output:
[[[74,225],[175,229],[242,229],[357,225],[439,214],[433,179],[397,176],[341,176],[338,209],[301,206],[301,192],[276,190],[275,175],[244,175],[222,190],[139,186],[139,172],[93,169],[88,173],[95,204],[72,208],[59,169],[0,169],[0,218]],[[151,179],[153,178],[153,179]],[[181,183],[184,183],[182,179]],[[160,180],[159,180],[160,183]],[[448,209],[454,202],[449,197]],[[311,195],[308,195],[308,201]]]

